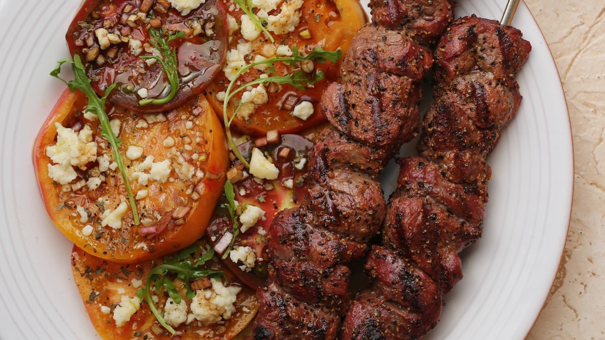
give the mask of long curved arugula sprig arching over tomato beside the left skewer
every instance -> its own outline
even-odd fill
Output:
[[[292,56],[291,57],[276,56],[276,57],[261,60],[258,62],[253,62],[252,64],[248,64],[245,67],[241,68],[235,74],[234,79],[231,80],[231,82],[229,83],[229,86],[227,87],[227,90],[225,91],[225,99],[223,101],[223,120],[225,122],[225,131],[227,134],[227,141],[231,145],[231,149],[234,152],[235,156],[242,163],[244,163],[244,165],[246,165],[246,168],[250,168],[250,165],[246,161],[244,156],[241,154],[240,150],[237,148],[237,145],[235,145],[235,142],[231,135],[231,122],[235,118],[235,115],[237,114],[237,110],[234,110],[232,112],[231,119],[229,119],[229,117],[227,117],[227,106],[229,105],[229,102],[231,101],[233,96],[235,96],[235,94],[243,91],[244,89],[246,89],[249,86],[261,84],[261,83],[289,84],[295,88],[298,88],[299,90],[304,90],[305,85],[311,85],[315,82],[318,82],[319,80],[324,79],[325,74],[322,71],[315,71],[312,75],[309,75],[306,72],[301,70],[301,68],[298,66],[299,63],[310,60],[313,62],[318,62],[319,64],[325,64],[328,61],[336,62],[341,57],[342,57],[342,50],[324,51],[324,49],[321,47],[316,47],[315,49],[313,49],[313,51],[311,51],[306,56],[302,56],[299,53],[298,48],[296,48],[294,46],[294,47],[292,47]],[[290,67],[295,67],[296,70],[293,70],[292,73],[286,74],[284,76],[280,76],[277,74],[277,71],[275,70],[275,64],[278,62],[282,62],[286,65],[289,65]],[[266,68],[266,70],[264,70],[264,73],[271,74],[272,76],[265,77],[265,78],[261,78],[259,76],[257,79],[241,85],[236,90],[232,90],[235,83],[237,82],[237,79],[242,74],[246,73],[248,70],[250,70],[250,68],[253,68],[258,65],[265,65],[267,68]],[[238,104],[238,106],[237,106],[238,110],[239,110],[240,106],[241,106],[241,103]]]

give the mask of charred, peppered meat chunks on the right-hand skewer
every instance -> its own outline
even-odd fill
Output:
[[[513,77],[529,51],[516,28],[476,16],[440,40],[420,157],[397,160],[382,246],[365,263],[372,286],[353,299],[342,339],[418,339],[439,321],[442,295],[462,279],[458,253],[481,237],[485,157],[521,103]]]

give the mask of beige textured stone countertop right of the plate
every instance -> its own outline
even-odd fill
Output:
[[[605,339],[605,1],[525,2],[561,74],[575,153],[563,260],[527,340]]]

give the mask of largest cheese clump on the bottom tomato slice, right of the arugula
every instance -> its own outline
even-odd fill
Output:
[[[235,312],[234,302],[241,287],[223,286],[221,281],[210,279],[212,287],[198,290],[191,301],[191,312],[204,324],[215,324],[221,319],[231,319]]]

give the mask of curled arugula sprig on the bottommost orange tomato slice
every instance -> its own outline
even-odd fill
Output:
[[[145,288],[137,290],[137,296],[139,299],[145,297],[145,300],[149,304],[151,313],[153,313],[157,321],[160,322],[160,324],[172,335],[177,332],[171,327],[171,325],[166,323],[164,316],[160,314],[159,310],[157,310],[157,307],[155,307],[151,297],[151,283],[155,281],[154,287],[156,292],[160,293],[165,289],[166,292],[168,292],[168,296],[171,297],[176,304],[180,304],[182,299],[181,295],[174,286],[171,276],[168,276],[169,273],[176,274],[177,278],[183,280],[187,287],[187,292],[185,293],[185,298],[187,299],[192,299],[195,296],[195,292],[191,290],[190,281],[192,280],[205,278],[208,276],[223,276],[226,280],[226,276],[224,276],[224,273],[220,270],[202,268],[207,261],[214,257],[214,249],[211,248],[208,250],[208,252],[201,254],[197,260],[188,260],[188,258],[192,257],[193,253],[197,252],[197,250],[198,244],[194,243],[178,252],[172,258],[165,257],[164,263],[155,267],[151,270],[151,272],[148,273],[145,281]]]

